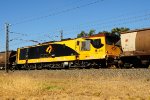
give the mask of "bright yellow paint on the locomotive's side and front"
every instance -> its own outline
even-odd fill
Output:
[[[103,46],[101,48],[94,48],[92,44],[90,43],[90,50],[89,51],[81,51],[81,42],[86,41],[86,39],[101,39],[101,43]],[[59,42],[53,42],[53,43],[47,43],[50,46],[46,49],[47,53],[50,53],[52,50],[51,44],[62,44],[65,46],[68,46],[75,50],[79,55],[70,55],[70,56],[61,56],[61,57],[45,57],[45,58],[39,58],[39,59],[28,59],[28,63],[41,63],[41,62],[61,62],[61,61],[75,61],[75,60],[91,60],[91,59],[105,59],[105,57],[108,56],[119,56],[121,53],[121,50],[119,47],[114,45],[107,45],[105,42],[105,36],[101,37],[90,37],[90,38],[77,38],[72,40],[66,40],[66,41],[59,41]],[[78,44],[79,43],[79,44]],[[43,44],[43,45],[47,45]],[[42,44],[41,44],[42,45]],[[38,45],[40,46],[40,45]],[[34,46],[35,47],[35,46]],[[26,47],[30,48],[30,47]],[[26,60],[19,60],[19,54],[20,54],[19,48],[17,51],[17,64],[25,64]]]

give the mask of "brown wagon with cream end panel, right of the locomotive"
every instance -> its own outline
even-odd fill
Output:
[[[150,29],[132,30],[121,34],[121,67],[144,67],[150,65]]]

